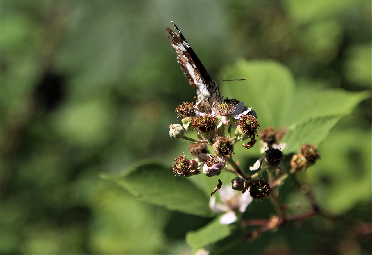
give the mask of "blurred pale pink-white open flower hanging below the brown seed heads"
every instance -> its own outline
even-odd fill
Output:
[[[231,224],[235,222],[238,218],[237,212],[245,212],[247,206],[253,200],[248,192],[242,194],[230,187],[222,187],[218,190],[217,194],[219,194],[221,203],[217,203],[216,197],[211,196],[209,199],[209,208],[215,213],[225,212],[219,218],[219,223],[221,224]]]

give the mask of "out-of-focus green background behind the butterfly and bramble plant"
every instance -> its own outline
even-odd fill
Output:
[[[166,38],[171,21],[213,79],[238,58],[276,59],[299,87],[371,88],[369,0],[2,0],[0,12],[1,254],[179,254],[186,231],[210,220],[98,177],[149,158],[171,166],[187,149],[168,134],[195,95]],[[360,220],[371,220],[371,183],[352,197],[327,184],[335,169],[371,177],[370,120],[365,101],[324,141],[310,176],[337,214]],[[281,235],[295,246],[306,231]]]

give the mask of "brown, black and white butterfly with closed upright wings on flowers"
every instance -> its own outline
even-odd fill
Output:
[[[186,78],[189,79],[190,85],[198,89],[198,100],[206,102],[211,100],[213,102],[218,98],[221,101],[216,82],[211,79],[204,65],[198,56],[196,56],[176,24],[173,21],[172,24],[176,27],[178,33],[167,27],[165,30],[171,36],[169,37],[167,35],[167,37],[172,43],[173,49],[176,50],[177,62]]]

